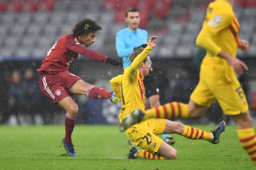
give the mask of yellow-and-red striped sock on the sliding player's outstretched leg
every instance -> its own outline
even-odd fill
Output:
[[[194,128],[187,125],[184,125],[184,131],[180,135],[189,139],[203,139],[203,140],[209,140],[211,137],[211,133],[208,133],[208,132],[202,131],[201,129]]]

